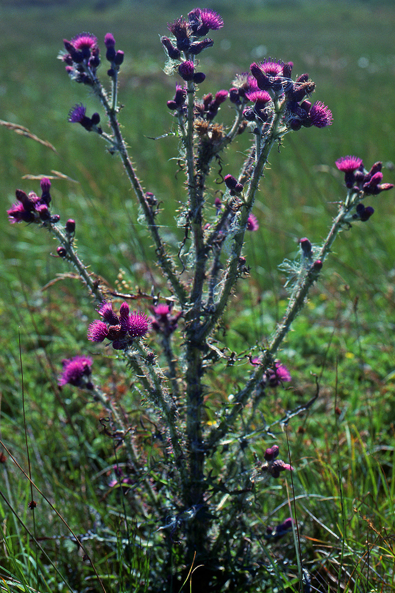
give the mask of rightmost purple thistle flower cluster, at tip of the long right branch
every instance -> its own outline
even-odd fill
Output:
[[[362,159],[354,155],[338,158],[335,164],[344,173],[345,185],[350,195],[355,194],[362,199],[363,196],[377,196],[394,187],[393,183],[382,183],[381,161],[375,162],[369,171],[365,169]],[[357,203],[355,211],[350,220],[365,222],[374,213],[372,206],[365,207],[362,202]]]

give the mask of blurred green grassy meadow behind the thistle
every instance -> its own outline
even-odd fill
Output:
[[[224,27],[216,33],[214,47],[201,55],[207,75],[201,94],[230,88],[237,72],[272,56],[293,61],[294,73],[309,72],[316,82],[314,99],[333,113],[329,128],[287,135],[281,155],[271,153],[253,211],[260,227],[248,235],[245,247],[251,276],[239,283],[239,295],[224,320],[224,340],[240,351],[264,339],[281,318],[286,294],[278,264],[295,256],[298,238],[320,243],[325,237],[336,200],[344,193],[335,160],[355,154],[367,168],[382,160],[384,181],[395,182],[395,8],[392,2],[319,0],[208,1],[204,6],[220,12]],[[108,496],[114,460],[99,427],[97,404],[76,390],[56,386],[62,358],[90,352],[86,327],[95,313],[77,280],[52,282],[70,270],[52,256],[56,243],[50,236],[36,226],[9,225],[5,211],[15,201],[15,188],[39,189],[38,181],[24,176],[60,171],[70,180],[53,181],[52,212],[63,221],[76,220],[79,253],[91,262],[92,271],[112,286],[120,270],[131,290],[139,286],[149,292],[152,285],[160,286],[155,253],[137,222],[136,202],[120,162],[96,135],[67,122],[76,103],[86,104],[88,114],[98,110],[94,97],[70,82],[56,56],[63,38],[89,31],[103,46],[104,34],[114,34],[117,49],[125,52],[120,75],[123,132],[143,186],[162,202],[160,222],[176,248],[182,235],[174,214],[184,198],[182,173],[176,174],[174,160],[177,141],[152,138],[171,129],[166,101],[177,82],[162,71],[159,36],[166,34],[168,21],[192,8],[190,2],[160,1],[5,1],[0,7],[0,119],[27,127],[57,151],[0,126],[0,433],[26,467],[19,332],[33,478],[80,534],[98,514],[109,533],[116,531],[114,501]],[[105,65],[101,69],[104,78]],[[231,121],[228,103],[220,119]],[[240,136],[240,154],[227,152],[224,173],[237,176],[247,146],[248,138]],[[215,180],[213,176],[214,190]],[[293,375],[291,386],[272,394],[269,402],[268,413],[281,416],[309,400],[315,390],[313,374],[318,375],[320,396],[314,408],[289,427],[302,553],[317,591],[348,590],[347,579],[352,582],[355,570],[365,576],[368,572],[372,591],[395,591],[393,192],[365,205],[374,206],[374,216],[336,241],[281,352]],[[104,388],[124,397],[128,380],[115,357],[107,366],[100,364],[100,356],[95,358],[94,372]],[[219,378],[217,389],[229,393],[226,377]],[[128,405],[138,417],[139,402]],[[285,447],[284,435],[278,438]],[[30,524],[27,480],[6,458],[0,466],[0,491]],[[262,531],[274,512],[273,500],[284,500],[280,490],[273,487],[272,498],[259,511]],[[96,591],[91,569],[76,559],[75,548],[63,537],[65,528],[43,500],[36,500],[37,533],[60,572],[76,590]],[[280,519],[282,511],[282,518],[287,517],[286,505],[279,505]],[[0,547],[2,574],[8,571],[34,584],[31,544],[4,499],[0,521],[12,543],[12,550]],[[114,572],[108,566],[113,566],[115,551],[95,546],[101,573]],[[290,539],[273,553],[278,559],[292,557],[292,548]],[[59,577],[49,568],[44,579],[48,590],[55,581]]]

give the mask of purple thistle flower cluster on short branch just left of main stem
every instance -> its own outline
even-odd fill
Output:
[[[107,339],[113,344],[114,350],[126,350],[149,330],[147,316],[140,311],[129,314],[126,302],[121,304],[119,315],[115,314],[113,306],[107,301],[102,301],[97,311],[103,321],[96,319],[89,325],[88,340],[91,342]]]

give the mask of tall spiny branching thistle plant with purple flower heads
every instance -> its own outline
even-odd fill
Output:
[[[286,450],[281,451],[285,461],[277,458],[274,427],[284,427],[313,403],[289,410],[274,423],[265,422],[265,394],[291,380],[278,358],[280,347],[325,271],[339,232],[368,221],[374,210],[370,202],[365,205],[366,199],[393,187],[383,183],[381,162],[367,170],[360,158],[339,158],[336,167],[345,173],[346,195],[327,237],[322,244],[301,238],[297,259],[281,265],[289,291],[284,316],[272,335],[262,336],[251,351],[228,352],[218,329],[232,295],[249,273],[243,245],[246,231],[259,226],[253,207],[271,149],[302,128],[325,133],[332,113],[322,101],[310,101],[316,85],[309,75],[293,78],[293,64],[281,59],[252,63],[249,72],[235,73],[229,89],[201,97],[200,85],[210,84],[202,71],[205,52],[214,45],[208,34],[214,37],[221,27],[217,12],[195,8],[169,23],[168,34],[160,38],[165,72],[177,79],[167,109],[174,120],[169,133],[179,140],[176,156],[185,175],[185,199],[176,217],[184,235],[178,251],[166,243],[160,196],[155,188],[144,189],[121,131],[118,76],[124,53],[115,49],[113,34],[104,38],[105,66],[98,40],[90,33],[64,40],[60,55],[72,81],[97,98],[101,113],[89,115],[78,103],[69,110],[68,121],[97,134],[108,152],[120,158],[136,195],[139,220],[155,246],[162,275],[151,294],[113,291],[94,275],[89,262],[82,262],[75,244],[78,221],[64,223],[61,215],[52,213],[48,178],[41,180],[41,196],[17,190],[18,201],[8,210],[11,222],[37,224],[56,238],[57,256],[73,266],[92,297],[86,351],[69,353],[63,360],[59,384],[85,390],[102,404],[111,422],[108,436],[121,443],[118,459],[133,468],[133,479],[120,481],[123,473],[117,466],[114,484],[123,484],[124,499],[133,506],[139,546],[151,550],[151,581],[147,589],[134,582],[136,591],[178,591],[193,565],[200,565],[191,579],[195,591],[256,590],[261,548],[259,538],[250,533],[249,509],[273,480],[284,481],[294,473]],[[99,69],[106,67],[102,82]],[[229,127],[219,122],[225,104],[234,114]],[[241,134],[251,138],[248,154],[238,172],[228,171],[226,149],[237,145]],[[225,173],[221,197],[213,197],[213,170],[216,176]],[[136,300],[139,307],[131,313],[128,301]],[[136,438],[133,419],[121,415],[116,402],[96,386],[92,352],[99,348],[123,359],[130,373],[132,395],[143,402],[160,441],[150,455]],[[236,361],[246,369],[243,384],[239,380],[241,386],[229,391],[226,403],[211,401],[213,374],[232,374]],[[268,445],[261,458],[254,447],[258,439]],[[288,518],[261,535],[277,539],[294,528],[294,519]],[[230,540],[237,541],[236,546],[230,546]],[[305,569],[300,579],[306,581]]]

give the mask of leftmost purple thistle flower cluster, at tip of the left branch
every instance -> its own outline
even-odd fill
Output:
[[[15,203],[9,210],[7,210],[9,221],[12,222],[58,222],[60,216],[51,215],[49,205],[51,202],[51,195],[49,193],[51,182],[44,177],[40,181],[41,196],[30,192],[26,194],[21,189],[17,189],[15,195],[18,202]]]

